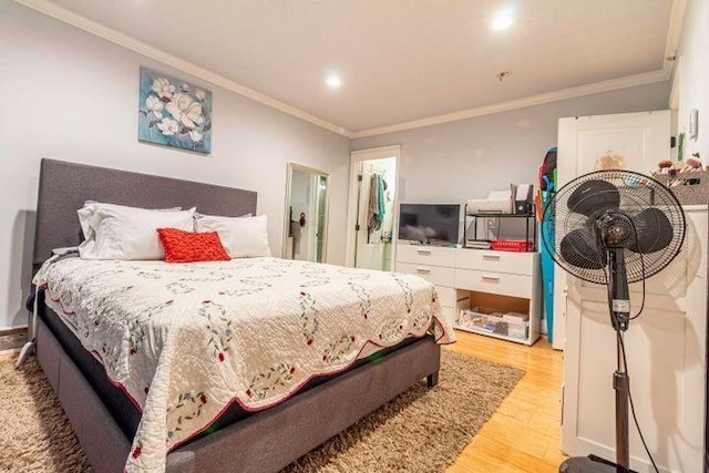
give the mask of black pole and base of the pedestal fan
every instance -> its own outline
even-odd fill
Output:
[[[637,473],[630,470],[628,440],[628,395],[630,379],[626,370],[623,337],[630,322],[628,279],[623,248],[608,248],[608,308],[610,322],[616,331],[617,368],[613,374],[616,392],[616,463],[596,455],[574,456],[558,467],[559,473]]]

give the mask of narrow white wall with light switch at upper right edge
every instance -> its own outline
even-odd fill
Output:
[[[685,132],[685,160],[699,153],[709,165],[709,1],[688,0],[674,85],[679,91],[678,133]],[[689,111],[699,111],[699,134],[689,140]]]

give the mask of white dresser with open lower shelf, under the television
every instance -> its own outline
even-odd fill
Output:
[[[542,285],[537,253],[449,248],[400,243],[395,270],[433,282],[443,316],[456,328],[518,343],[540,337]],[[485,308],[528,316],[524,336],[511,337],[473,325],[459,325],[462,309]]]

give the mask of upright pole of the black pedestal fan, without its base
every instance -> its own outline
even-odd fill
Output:
[[[610,322],[616,330],[617,353],[617,369],[613,374],[613,389],[616,392],[616,465],[617,473],[627,473],[630,471],[628,424],[630,379],[626,369],[623,337],[630,322],[630,291],[623,248],[608,248],[608,267],[610,268],[608,305],[610,306]]]

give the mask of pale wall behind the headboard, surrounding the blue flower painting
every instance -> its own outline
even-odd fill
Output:
[[[138,68],[213,91],[212,154],[137,142]],[[0,328],[27,323],[39,161],[53,157],[258,193],[280,255],[286,167],[330,174],[328,258],[345,261],[349,140],[0,0]]]

